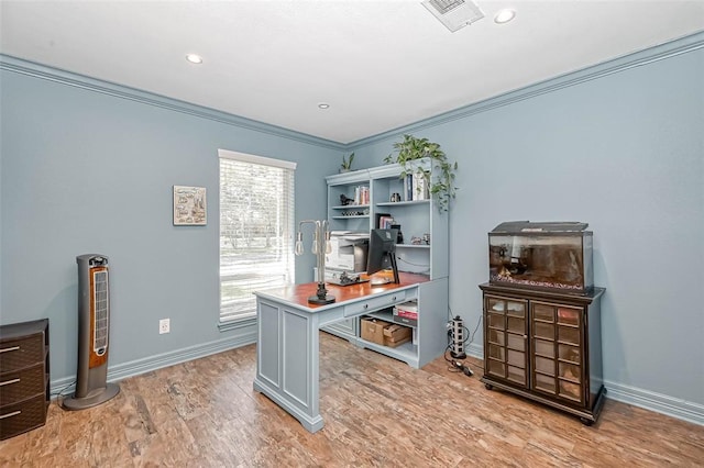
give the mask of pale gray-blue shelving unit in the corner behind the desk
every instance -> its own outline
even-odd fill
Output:
[[[429,159],[420,159],[414,167],[429,171],[432,177]],[[389,164],[327,177],[328,221],[332,231],[369,232],[378,227],[380,215],[391,215],[394,223],[400,225],[404,242],[396,245],[398,269],[426,275],[431,280],[418,290],[416,344],[409,342],[392,348],[364,341],[360,337],[360,317],[337,322],[322,330],[419,367],[447,346],[448,213],[441,212],[433,199],[407,200],[402,171],[398,164]],[[341,196],[354,200],[361,187],[369,187],[369,204],[342,204]],[[395,193],[400,194],[400,201],[391,201]],[[422,242],[424,235],[429,235],[429,244]],[[413,243],[414,238],[420,239],[420,244]],[[374,315],[392,321],[391,310],[376,311]]]

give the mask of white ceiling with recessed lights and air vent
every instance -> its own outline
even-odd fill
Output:
[[[420,0],[2,0],[0,52],[350,143],[704,31],[704,0],[476,3],[451,33]]]

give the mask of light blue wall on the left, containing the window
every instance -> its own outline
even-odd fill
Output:
[[[217,327],[218,148],[296,161],[296,216],[309,219],[326,212],[339,147],[3,59],[0,323],[50,319],[53,386],[76,372],[80,254],[110,258],[109,378],[253,343],[251,326]],[[173,225],[173,185],[207,188],[207,226]],[[297,259],[299,281],[314,264]]]

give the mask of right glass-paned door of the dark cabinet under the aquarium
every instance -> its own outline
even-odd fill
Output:
[[[584,402],[581,317],[583,310],[532,301],[532,389]]]

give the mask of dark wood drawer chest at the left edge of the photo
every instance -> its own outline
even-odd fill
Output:
[[[44,425],[48,319],[0,326],[0,441]]]

